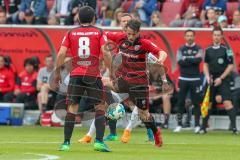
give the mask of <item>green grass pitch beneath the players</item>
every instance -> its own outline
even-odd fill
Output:
[[[113,152],[100,153],[93,150],[93,143],[77,143],[78,138],[82,137],[86,130],[87,128],[75,128],[70,151],[60,152],[58,148],[63,140],[63,128],[0,126],[0,159],[42,158],[33,154],[56,155],[64,160],[240,159],[240,136],[232,135],[228,131],[210,131],[206,135],[195,135],[190,131],[182,133],[163,131],[164,146],[156,148],[153,144],[145,142],[146,130],[138,128],[133,131],[130,143],[107,142]],[[122,130],[118,130],[118,133],[121,135]]]

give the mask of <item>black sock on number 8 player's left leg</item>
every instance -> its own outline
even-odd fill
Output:
[[[76,115],[73,113],[67,113],[65,117],[65,125],[64,125],[64,142],[69,142],[72,137],[72,132],[75,124]]]

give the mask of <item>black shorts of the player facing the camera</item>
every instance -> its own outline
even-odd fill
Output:
[[[128,93],[129,99],[140,109],[149,108],[148,84],[133,84],[123,78],[118,79],[118,89],[120,93]]]

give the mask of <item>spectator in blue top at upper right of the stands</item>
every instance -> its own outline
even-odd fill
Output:
[[[200,19],[202,23],[205,22],[207,10],[209,10],[210,8],[214,9],[218,16],[225,14],[227,10],[226,3],[227,1],[225,0],[205,0],[205,2],[203,3],[201,15],[200,15]]]

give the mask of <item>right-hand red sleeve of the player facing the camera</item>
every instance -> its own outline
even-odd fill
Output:
[[[159,57],[159,52],[162,51],[156,44],[149,40],[142,41],[142,49],[152,53],[154,56]]]

